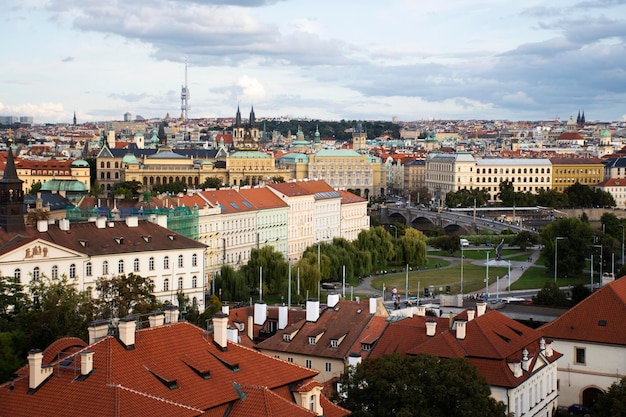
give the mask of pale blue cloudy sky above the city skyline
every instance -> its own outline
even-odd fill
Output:
[[[626,120],[626,0],[4,0],[0,115]]]

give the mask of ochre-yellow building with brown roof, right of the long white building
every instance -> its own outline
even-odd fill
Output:
[[[604,164],[599,158],[550,158],[552,189],[558,192],[576,184],[593,187],[604,180]]]

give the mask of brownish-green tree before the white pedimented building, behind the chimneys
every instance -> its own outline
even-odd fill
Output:
[[[153,295],[152,280],[132,272],[111,278],[98,278],[96,291],[100,297],[94,304],[96,315],[101,319],[147,314],[162,307]]]

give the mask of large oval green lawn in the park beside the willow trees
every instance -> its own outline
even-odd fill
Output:
[[[443,265],[444,260],[434,259],[435,264],[440,263]],[[459,260],[460,261],[460,260]],[[429,264],[432,263],[432,258],[429,258]],[[490,267],[489,268],[489,283],[496,279],[496,276],[504,276],[508,272],[508,268],[505,267]],[[483,292],[485,288],[485,267],[482,265],[471,265],[469,262],[463,264],[463,292]],[[406,287],[406,274],[390,274],[384,276],[377,276],[372,279],[372,287],[382,292],[383,282],[387,288],[387,291],[391,291],[391,288],[396,287],[398,292],[405,296]],[[441,268],[427,268],[420,271],[409,272],[409,295],[416,295],[419,290],[423,295],[425,287],[433,285],[437,293],[445,290],[445,286],[450,286],[450,293],[457,294],[461,287],[461,264],[460,262],[449,267]],[[504,288],[504,287],[503,287]],[[482,290],[482,291],[481,291]]]

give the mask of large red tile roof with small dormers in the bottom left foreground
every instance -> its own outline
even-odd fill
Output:
[[[75,344],[66,339],[51,348]],[[28,366],[22,368],[12,390],[8,382],[0,385],[0,415],[222,416],[228,406],[236,417],[310,415],[294,408],[291,387],[308,383],[317,371],[233,343],[222,350],[211,334],[186,322],[137,331],[131,350],[107,336],[82,351],[94,353],[86,378],[76,379],[79,353],[63,364],[46,354],[43,364],[54,374],[29,394]]]

